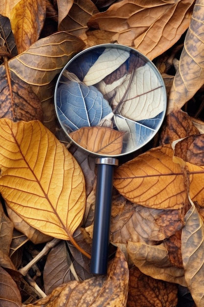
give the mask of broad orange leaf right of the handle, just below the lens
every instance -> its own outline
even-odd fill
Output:
[[[170,146],[153,148],[119,166],[113,185],[120,194],[139,205],[179,209],[186,203],[181,166],[172,160]]]

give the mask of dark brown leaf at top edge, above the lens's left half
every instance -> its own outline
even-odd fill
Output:
[[[88,29],[87,23],[90,17],[98,12],[91,0],[74,0],[68,15],[60,23],[58,29],[81,37]]]

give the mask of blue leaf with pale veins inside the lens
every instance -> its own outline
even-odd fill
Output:
[[[81,127],[97,126],[101,119],[112,112],[109,103],[94,86],[74,81],[59,86],[57,110],[68,132]]]

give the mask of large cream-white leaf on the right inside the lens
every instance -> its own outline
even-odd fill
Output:
[[[118,104],[117,113],[140,121],[157,116],[165,109],[165,92],[161,81],[147,63],[136,68],[115,89],[113,103]]]

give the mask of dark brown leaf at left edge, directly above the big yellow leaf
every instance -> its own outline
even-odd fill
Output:
[[[14,73],[6,75],[1,65],[0,75],[1,108],[0,118],[6,117],[15,121],[43,121],[43,109],[38,97],[29,84],[21,80]],[[11,80],[11,88],[7,80]]]

